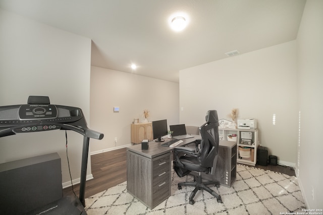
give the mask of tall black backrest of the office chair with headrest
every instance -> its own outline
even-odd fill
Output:
[[[219,153],[219,119],[216,110],[207,111],[206,122],[200,127],[201,156],[200,164],[203,167],[213,167],[214,158]]]

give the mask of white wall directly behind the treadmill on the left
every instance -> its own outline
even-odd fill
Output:
[[[49,96],[51,104],[80,107],[89,119],[90,39],[0,9],[0,47],[0,106]],[[60,130],[2,137],[0,163],[57,152],[69,183],[65,143]],[[73,179],[80,178],[82,143],[83,136],[68,131]]]

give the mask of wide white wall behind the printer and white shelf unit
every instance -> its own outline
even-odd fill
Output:
[[[296,163],[296,41],[180,71],[180,122],[201,125],[207,110],[219,119],[258,121],[260,144],[279,162]],[[276,114],[276,125],[273,125]]]

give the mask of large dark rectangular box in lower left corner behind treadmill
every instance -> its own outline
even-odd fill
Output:
[[[59,154],[0,164],[1,214],[25,214],[62,197]]]

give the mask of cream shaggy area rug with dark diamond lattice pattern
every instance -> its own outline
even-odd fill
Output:
[[[297,178],[272,171],[237,165],[237,178],[232,186],[210,187],[221,195],[218,203],[206,191],[198,191],[195,203],[189,204],[193,187],[177,189],[180,181],[192,181],[192,176],[179,178],[172,171],[172,195],[149,209],[127,192],[127,182],[85,199],[88,215],[100,214],[288,214],[302,212],[304,200]]]

